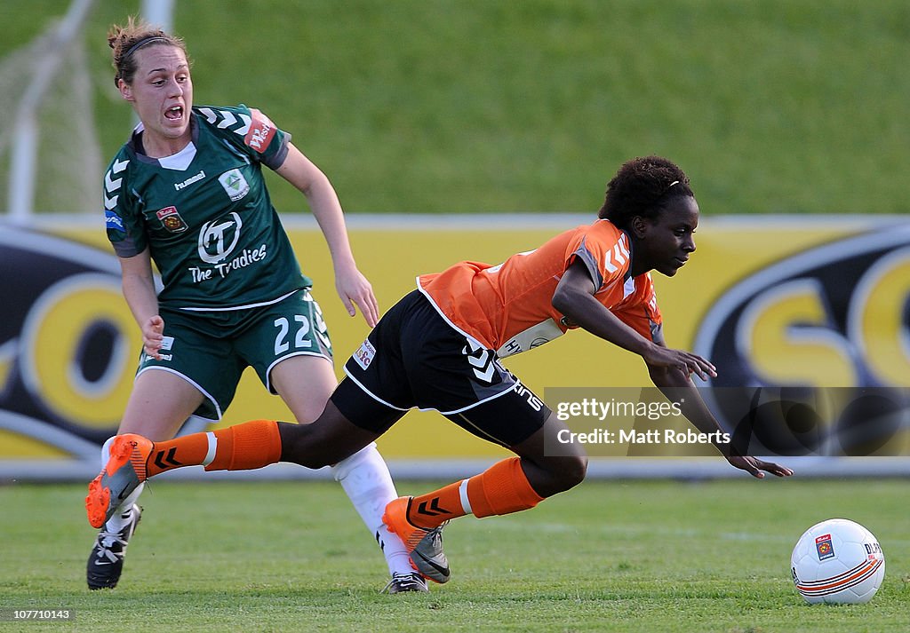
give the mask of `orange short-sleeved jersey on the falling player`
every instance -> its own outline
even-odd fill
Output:
[[[460,262],[417,283],[450,325],[504,358],[577,327],[552,306],[556,285],[576,259],[597,286],[594,296],[653,340],[662,318],[651,275],[631,276],[629,237],[609,220],[565,231],[499,266]]]

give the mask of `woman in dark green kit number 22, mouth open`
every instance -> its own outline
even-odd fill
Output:
[[[130,19],[112,27],[108,44],[117,89],[140,120],[104,177],[107,236],[144,346],[118,434],[164,440],[187,417],[217,422],[246,367],[299,423],[312,422],[337,382],[329,333],[271,204],[262,166],[307,197],[342,302],[351,316],[359,306],[373,327],[376,297],[355,264],[335,190],[257,109],[193,106],[181,39]],[[261,440],[254,429],[233,441],[242,461],[244,447]],[[375,445],[332,468],[379,541],[392,575],[389,592],[426,591],[400,539],[382,524],[383,509],[398,495]],[[96,526],[89,588],[116,586],[141,516],[141,491]]]

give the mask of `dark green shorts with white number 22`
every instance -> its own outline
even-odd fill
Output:
[[[253,367],[272,394],[268,376],[285,358],[319,356],[332,360],[322,310],[302,288],[268,306],[243,310],[190,312],[161,309],[165,321],[161,360],[139,358],[136,376],[150,369],[183,377],[205,400],[195,415],[217,422],[234,399],[244,369]]]

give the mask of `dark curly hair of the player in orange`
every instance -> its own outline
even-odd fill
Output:
[[[673,196],[695,196],[682,169],[660,156],[634,158],[607,184],[607,196],[597,216],[628,228],[634,216],[659,216]]]

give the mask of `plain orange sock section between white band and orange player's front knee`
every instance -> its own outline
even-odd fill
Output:
[[[530,509],[543,497],[528,482],[521,458],[510,457],[468,479],[468,500],[473,515],[482,518]]]

